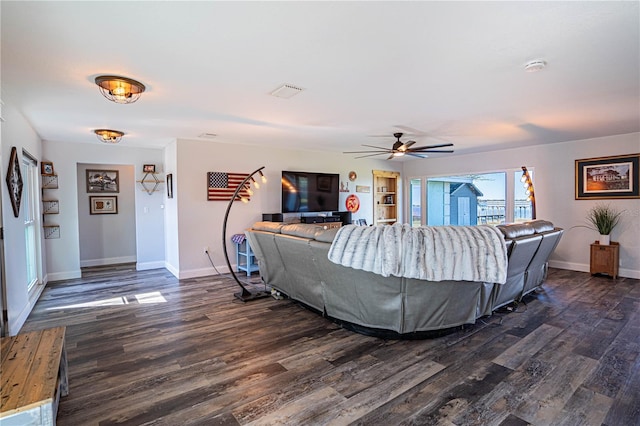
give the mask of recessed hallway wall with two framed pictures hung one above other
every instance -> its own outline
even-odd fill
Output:
[[[118,193],[88,193],[87,170],[118,171]],[[136,261],[135,171],[133,166],[78,164],[80,266]],[[117,214],[90,214],[90,196],[117,197]]]

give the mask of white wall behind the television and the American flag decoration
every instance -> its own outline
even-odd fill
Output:
[[[170,148],[173,149],[173,148]],[[173,155],[169,155],[173,156]],[[228,268],[222,253],[222,223],[227,208],[226,202],[207,201],[207,172],[250,173],[265,166],[268,183],[255,191],[248,204],[234,203],[229,216],[227,236],[243,232],[262,213],[281,211],[282,170],[339,173],[341,181],[348,181],[350,171],[358,178],[349,182],[351,194],[355,186],[372,186],[372,170],[399,171],[401,163],[384,160],[353,159],[350,155],[294,151],[258,146],[238,146],[211,141],[179,139],[177,141],[177,168],[174,173],[174,197],[177,202],[178,227],[167,231],[167,240],[178,241],[179,253],[171,256],[171,262],[179,259],[179,266],[169,268],[179,278],[214,274],[204,247],[210,248],[213,262],[218,270]],[[167,159],[167,164],[170,160]],[[350,193],[340,194],[340,210],[345,211],[345,200]],[[360,211],[354,219],[373,219],[373,189],[371,193],[357,193]],[[174,235],[175,233],[175,235]],[[178,238],[179,237],[179,238]],[[235,246],[227,241],[229,259],[235,264]]]

